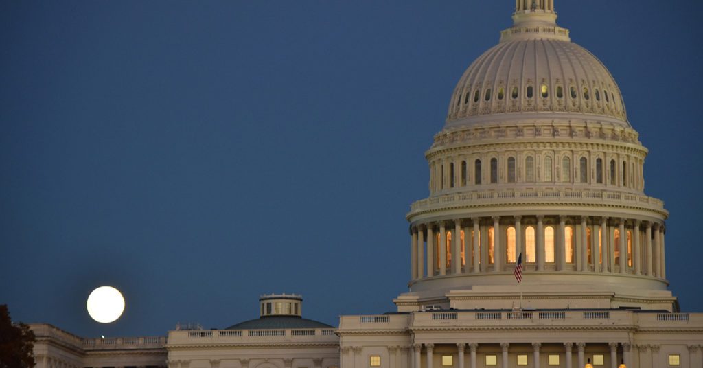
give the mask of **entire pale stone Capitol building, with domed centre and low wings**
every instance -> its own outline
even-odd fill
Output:
[[[703,314],[667,290],[669,213],[644,191],[647,148],[554,3],[515,1],[456,84],[425,151],[429,196],[406,214],[395,311],[329,326],[273,294],[223,329],[82,338],[33,324],[37,367],[703,368]]]

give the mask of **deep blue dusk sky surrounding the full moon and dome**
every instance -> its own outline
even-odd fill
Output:
[[[703,312],[703,1],[555,3],[619,83],[671,290]],[[394,310],[424,151],[513,6],[1,1],[0,303],[80,336],[224,328],[272,292],[333,325]]]

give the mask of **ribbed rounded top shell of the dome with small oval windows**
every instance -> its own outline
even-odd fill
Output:
[[[449,104],[447,127],[482,115],[562,113],[606,118],[629,127],[620,89],[592,53],[574,44],[553,12],[516,13],[501,42],[464,72]],[[516,118],[516,117],[514,117]]]

